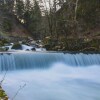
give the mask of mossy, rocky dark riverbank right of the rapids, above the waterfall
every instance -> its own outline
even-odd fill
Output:
[[[44,48],[49,51],[70,51],[70,52],[99,52],[100,39],[98,38],[65,38],[62,37],[55,41],[49,37],[43,41]]]

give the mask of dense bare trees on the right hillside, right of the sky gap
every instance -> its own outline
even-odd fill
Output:
[[[59,4],[61,8],[55,15],[56,31],[59,35],[77,34],[79,36],[80,33],[99,26],[100,0],[58,1],[56,4]]]

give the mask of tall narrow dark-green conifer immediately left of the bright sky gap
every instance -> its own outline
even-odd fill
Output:
[[[34,35],[39,36],[40,28],[41,28],[41,10],[39,4],[36,0],[34,0],[34,6],[31,7],[30,11],[30,19],[29,19],[29,26],[28,30]]]

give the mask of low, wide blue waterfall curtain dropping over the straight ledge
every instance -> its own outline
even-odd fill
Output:
[[[51,64],[61,62],[71,66],[100,65],[100,54],[69,53],[32,53],[15,52],[0,54],[0,71],[49,68]]]

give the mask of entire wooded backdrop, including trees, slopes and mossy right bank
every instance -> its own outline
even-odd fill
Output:
[[[0,37],[26,31],[47,50],[99,51],[100,0],[0,0]]]

